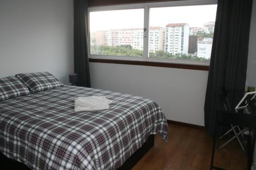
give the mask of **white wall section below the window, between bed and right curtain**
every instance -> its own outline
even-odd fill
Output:
[[[204,126],[208,71],[90,63],[92,87],[156,101],[167,119]]]

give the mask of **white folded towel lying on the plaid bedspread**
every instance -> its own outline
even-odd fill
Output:
[[[75,98],[75,112],[109,109],[111,100],[105,96],[89,96]]]

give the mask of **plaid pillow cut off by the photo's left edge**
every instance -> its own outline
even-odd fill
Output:
[[[0,79],[0,102],[28,94],[29,89],[16,77],[10,76]]]

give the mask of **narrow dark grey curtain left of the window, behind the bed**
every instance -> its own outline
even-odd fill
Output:
[[[74,66],[78,86],[91,87],[87,49],[88,1],[74,0]]]

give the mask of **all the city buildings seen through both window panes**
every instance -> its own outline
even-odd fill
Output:
[[[165,28],[151,27],[149,31],[148,50],[151,53],[159,51],[170,55],[193,55],[209,58],[212,37],[197,37],[197,34],[213,36],[215,22],[206,22],[201,28],[189,28],[187,23],[168,23]],[[120,46],[131,45],[132,49],[143,51],[143,29],[113,29],[97,31],[91,35],[92,45]],[[195,38],[190,36],[196,36]],[[190,41],[193,38],[193,41]],[[196,43],[196,44],[195,44]],[[193,47],[191,47],[193,46]],[[188,53],[193,51],[194,53]]]

